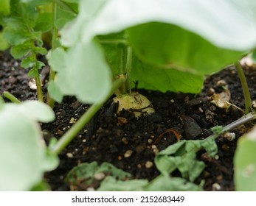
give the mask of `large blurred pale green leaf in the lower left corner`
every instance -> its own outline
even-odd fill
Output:
[[[41,102],[4,104],[0,110],[0,191],[28,191],[45,171],[58,166],[49,154],[37,121],[52,121],[55,114]]]

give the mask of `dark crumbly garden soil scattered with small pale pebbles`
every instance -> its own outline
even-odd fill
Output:
[[[245,67],[244,71],[252,99],[256,99],[256,70]],[[47,74],[47,69],[42,72]],[[35,90],[29,86],[31,79],[27,77],[27,71],[20,68],[18,61],[13,60],[7,51],[0,53],[0,81],[1,93],[7,90],[22,101],[35,99]],[[207,77],[201,93],[196,95],[139,90],[139,93],[148,97],[156,110],[151,116],[136,119],[125,111],[117,116],[116,107],[109,100],[61,152],[60,166],[46,174],[47,182],[53,191],[69,191],[69,185],[63,181],[67,172],[80,163],[92,161],[112,163],[131,173],[135,179],[153,180],[159,175],[153,164],[156,153],[176,142],[170,129],[179,132],[182,139],[203,139],[211,134],[210,128],[229,124],[243,115],[237,107],[225,109],[211,103],[212,94],[221,93],[225,88],[230,91],[229,102],[243,109],[241,83],[232,66]],[[46,91],[46,82],[44,90]],[[60,138],[88,108],[89,105],[77,102],[74,97],[66,97],[63,104],[55,104],[56,121],[42,125],[46,142],[51,135]],[[196,183],[203,180],[204,190],[235,190],[233,157],[236,144],[250,126],[249,124],[233,131],[236,135],[233,141],[218,138],[218,155],[215,158],[206,158],[204,151],[199,152],[198,159],[203,160],[207,166]],[[179,177],[179,173],[174,173],[173,176]]]

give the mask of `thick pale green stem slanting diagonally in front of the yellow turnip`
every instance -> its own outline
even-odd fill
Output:
[[[52,148],[52,152],[59,154],[72,140],[75,138],[78,132],[91,120],[91,118],[100,110],[100,107],[109,99],[109,97],[114,93],[115,90],[120,88],[125,82],[125,78],[117,79],[113,82],[111,92],[102,102],[92,104],[89,110],[80,117],[80,119],[60,138],[56,145]]]

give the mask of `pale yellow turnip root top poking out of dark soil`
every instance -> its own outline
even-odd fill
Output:
[[[120,113],[122,110],[128,110],[134,113],[136,118],[155,112],[151,102],[145,96],[137,92],[117,96],[114,98],[114,103],[118,103],[117,113]]]

